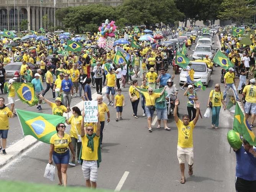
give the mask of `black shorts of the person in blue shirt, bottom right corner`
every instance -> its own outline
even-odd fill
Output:
[[[255,192],[256,181],[248,181],[240,177],[236,177],[236,192]]]

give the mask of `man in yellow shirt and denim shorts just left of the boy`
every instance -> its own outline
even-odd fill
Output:
[[[107,87],[106,87],[106,97],[108,98],[108,105],[114,106],[114,98],[115,98],[115,89],[117,88],[117,76],[113,73],[112,68],[108,69],[108,74],[106,75],[107,79]],[[109,97],[111,91],[111,99]]]

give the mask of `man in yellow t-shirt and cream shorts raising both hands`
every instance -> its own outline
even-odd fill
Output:
[[[189,164],[189,175],[193,174],[194,164],[194,148],[193,148],[193,129],[199,118],[200,103],[196,102],[195,107],[197,112],[195,118],[189,122],[189,115],[183,115],[182,121],[177,115],[179,100],[176,99],[174,107],[174,120],[178,128],[178,144],[177,144],[177,157],[181,169],[181,184],[186,182],[184,171],[185,161]]]

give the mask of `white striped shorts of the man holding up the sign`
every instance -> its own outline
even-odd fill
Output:
[[[92,182],[96,182],[98,178],[98,164],[97,161],[83,161],[82,171],[85,180],[90,179]]]

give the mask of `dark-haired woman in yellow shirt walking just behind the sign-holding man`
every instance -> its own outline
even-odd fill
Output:
[[[81,115],[81,111],[77,106],[74,106],[72,108],[72,116],[66,120],[66,123],[68,125],[71,124],[71,129],[70,129],[70,137],[71,137],[71,142],[74,147],[74,153],[77,152],[77,160],[79,159],[79,153],[81,149],[81,123],[84,121],[83,116]],[[77,150],[76,150],[77,148]],[[77,162],[79,162],[78,160]],[[69,162],[69,165],[75,166],[75,159]]]

